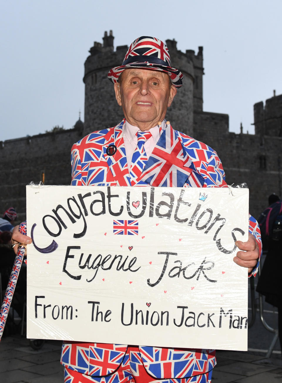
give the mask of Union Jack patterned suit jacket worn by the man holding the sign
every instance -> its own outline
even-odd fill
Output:
[[[72,185],[131,186],[127,166],[123,120],[114,128],[96,131],[73,145]],[[107,147],[115,145],[114,155]],[[136,183],[162,187],[227,187],[221,161],[211,147],[174,130],[160,128],[157,142]],[[257,222],[250,216],[249,231],[259,243]],[[257,271],[254,269],[253,274]],[[75,343],[63,344],[61,363],[78,372],[104,376],[122,362],[127,345]],[[142,363],[156,379],[188,378],[210,371],[216,364],[215,350],[167,349],[139,346]]]

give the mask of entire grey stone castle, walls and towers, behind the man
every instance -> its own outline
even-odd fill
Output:
[[[112,34],[105,34],[103,40],[103,46],[94,43],[85,62],[84,129],[76,124],[74,129],[0,142],[0,213],[14,206],[19,221],[25,219],[25,185],[39,183],[43,173],[46,185],[69,185],[72,144],[123,118],[107,72],[121,64],[127,46],[114,51]],[[167,45],[173,66],[184,75],[167,119],[175,129],[218,152],[228,184],[247,183],[249,210],[258,218],[271,193],[282,195],[282,95],[254,105],[254,135],[231,133],[228,115],[203,111],[203,49],[183,53],[176,49],[176,41],[167,40]]]

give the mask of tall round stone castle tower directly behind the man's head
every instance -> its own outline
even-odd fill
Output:
[[[172,66],[183,73],[183,86],[178,89],[166,118],[172,126],[193,135],[193,111],[203,110],[203,48],[199,52],[183,53],[176,48],[176,41],[166,41]],[[85,104],[84,133],[109,128],[123,118],[122,108],[117,105],[112,82],[107,78],[108,71],[123,62],[128,46],[118,46],[114,51],[114,36],[105,32],[103,46],[94,42],[90,48],[84,67]]]

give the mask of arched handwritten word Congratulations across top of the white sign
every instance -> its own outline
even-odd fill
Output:
[[[224,228],[226,218],[221,214],[214,212],[211,208],[207,207],[207,201],[199,200],[197,203],[191,203],[185,200],[185,189],[180,189],[179,197],[175,197],[173,193],[163,192],[162,200],[155,201],[159,196],[155,195],[155,188],[142,188],[147,191],[142,191],[140,194],[140,208],[137,210],[136,206],[136,191],[134,191],[134,198],[131,197],[131,191],[127,191],[126,206],[122,205],[122,198],[119,194],[113,194],[112,191],[117,192],[117,187],[107,187],[107,192],[102,190],[89,191],[84,195],[82,193],[76,196],[67,198],[65,203],[59,204],[54,207],[48,214],[42,218],[42,225],[46,233],[51,237],[50,244],[46,247],[40,247],[36,238],[36,223],[31,228],[31,238],[36,250],[41,253],[51,253],[58,248],[57,242],[53,239],[58,237],[64,229],[73,225],[74,238],[82,238],[87,232],[87,216],[99,217],[103,214],[110,214],[113,217],[128,216],[133,219],[142,217],[145,213],[149,218],[157,217],[162,219],[173,219],[177,223],[193,226],[197,230],[203,231],[204,234],[212,232],[213,241],[216,243],[218,249],[224,254],[231,254],[236,250],[236,236],[235,232],[240,232],[242,235],[245,232],[240,228],[233,228],[230,235],[234,241],[234,247],[231,250],[225,249],[221,244],[220,232]],[[105,190],[105,189],[104,189]],[[140,195],[140,197],[141,197]],[[141,203],[142,200],[142,203]],[[138,204],[139,206],[139,204]],[[135,211],[134,211],[135,210]],[[76,224],[79,223],[79,224]]]

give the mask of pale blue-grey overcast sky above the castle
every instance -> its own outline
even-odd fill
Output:
[[[282,93],[281,15],[281,0],[0,0],[0,141],[84,120],[84,61],[110,29],[114,47],[142,35],[203,46],[204,111],[252,133],[253,104]]]

